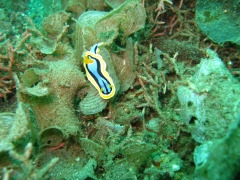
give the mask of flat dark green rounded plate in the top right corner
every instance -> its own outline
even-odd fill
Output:
[[[196,6],[196,22],[211,40],[218,44],[240,45],[240,1],[201,0]]]

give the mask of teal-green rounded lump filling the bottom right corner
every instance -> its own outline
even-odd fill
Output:
[[[239,176],[239,117],[236,121],[223,138],[195,148],[195,179],[229,180]]]

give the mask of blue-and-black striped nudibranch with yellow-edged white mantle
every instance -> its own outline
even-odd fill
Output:
[[[85,52],[83,66],[88,80],[98,90],[99,95],[103,99],[110,99],[114,96],[116,89],[112,78],[106,71],[106,62],[99,54],[99,46],[103,44],[97,43],[91,47],[90,51]]]

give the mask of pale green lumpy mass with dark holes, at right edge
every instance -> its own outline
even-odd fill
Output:
[[[207,50],[207,56],[208,59],[201,60],[188,86],[178,87],[181,117],[194,139],[201,143],[223,137],[240,111],[239,82],[215,52]]]

